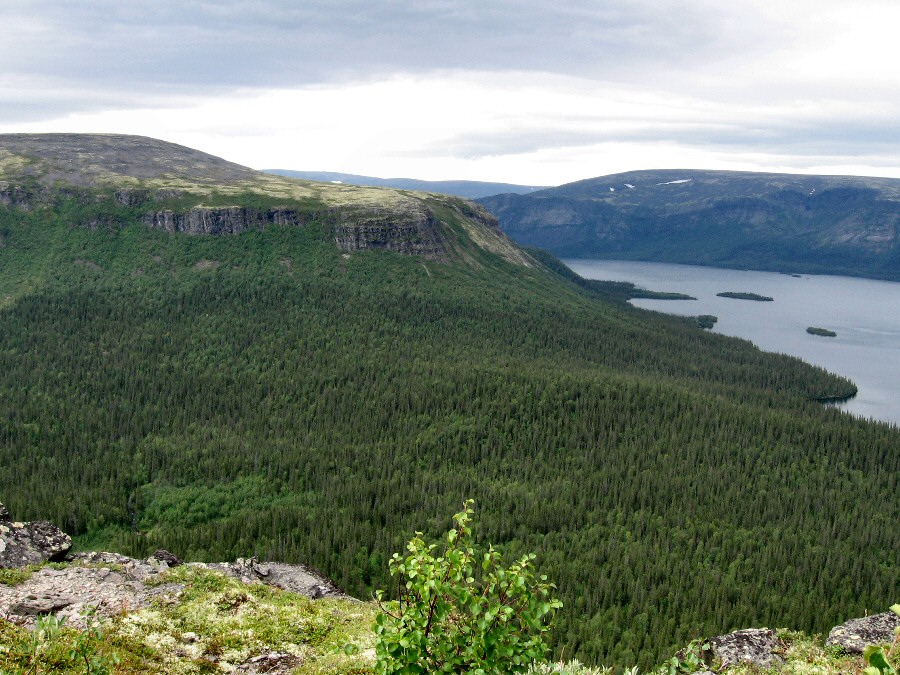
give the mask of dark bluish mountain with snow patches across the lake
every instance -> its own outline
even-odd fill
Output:
[[[562,257],[900,280],[900,180],[633,171],[478,200]]]

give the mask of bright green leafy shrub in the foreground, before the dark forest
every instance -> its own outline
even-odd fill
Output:
[[[383,602],[376,618],[376,671],[379,673],[523,673],[543,661],[554,612],[562,603],[555,588],[532,571],[534,554],[507,568],[493,547],[478,555],[470,540],[473,501],[453,516],[443,552],[422,533],[395,553],[391,576],[399,599]],[[481,561],[481,570],[476,565]]]

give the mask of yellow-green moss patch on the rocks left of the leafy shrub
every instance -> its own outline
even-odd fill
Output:
[[[169,582],[185,585],[181,602],[157,603],[117,620],[128,654],[123,663],[149,662],[166,673],[221,672],[274,651],[298,657],[299,672],[349,673],[366,672],[372,661],[370,604],[313,601],[198,566],[160,575],[158,583]],[[348,644],[354,648],[345,651]]]

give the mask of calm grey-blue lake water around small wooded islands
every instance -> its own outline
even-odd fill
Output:
[[[632,301],[670,314],[713,314],[717,333],[761,349],[799,356],[850,378],[859,388],[840,407],[854,415],[900,425],[900,283],[852,277],[747,272],[690,265],[566,260],[586,279],[630,281],[652,291],[687,293],[697,300]],[[716,297],[749,292],[773,302]],[[837,337],[809,335],[810,326]]]

